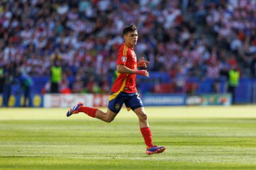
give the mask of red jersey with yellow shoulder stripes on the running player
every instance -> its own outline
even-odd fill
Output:
[[[130,48],[125,43],[119,48],[117,54],[117,65],[125,65],[129,69],[137,70],[137,58],[133,48]],[[135,85],[136,74],[124,74],[118,73],[117,79],[115,80],[111,92],[126,92],[135,93],[137,92]]]

